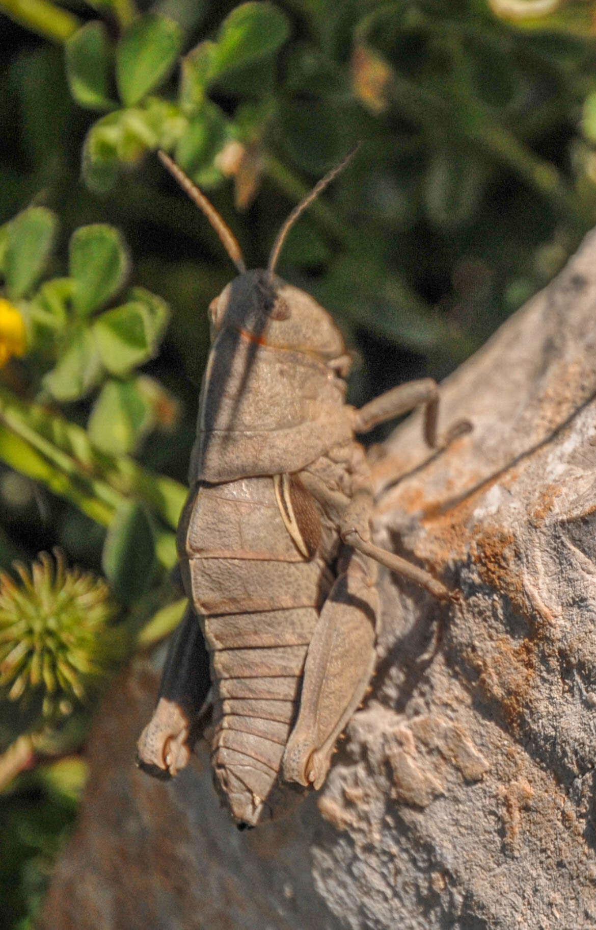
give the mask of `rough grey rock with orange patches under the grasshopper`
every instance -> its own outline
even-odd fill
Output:
[[[47,930],[596,925],[595,349],[591,233],[442,387],[473,433],[429,456],[413,418],[382,450],[377,541],[461,603],[382,573],[371,692],[291,817],[239,833],[204,751],[169,784],[137,772],[157,673],[136,663]]]

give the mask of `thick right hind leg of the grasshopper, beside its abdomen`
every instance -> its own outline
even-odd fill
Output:
[[[352,552],[323,605],[306,654],[298,719],[283,757],[286,781],[321,787],[335,741],[364,697],[375,662],[375,576],[369,559]]]

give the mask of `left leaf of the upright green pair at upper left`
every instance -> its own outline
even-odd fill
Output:
[[[87,22],[65,46],[66,76],[77,103],[90,110],[110,110],[110,44],[103,23]]]

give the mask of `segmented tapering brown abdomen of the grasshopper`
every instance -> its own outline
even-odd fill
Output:
[[[198,485],[178,548],[211,653],[216,783],[234,816],[254,823],[279,775],[333,578],[292,541],[270,477]]]

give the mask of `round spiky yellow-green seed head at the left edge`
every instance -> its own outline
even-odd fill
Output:
[[[0,701],[20,732],[71,713],[127,651],[105,581],[55,556],[0,572]]]

